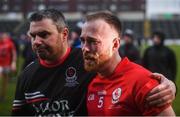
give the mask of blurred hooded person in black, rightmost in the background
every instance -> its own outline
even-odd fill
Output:
[[[153,46],[145,50],[142,63],[150,71],[161,73],[175,82],[176,56],[171,49],[164,45],[164,40],[165,34],[163,32],[155,31],[152,34]]]

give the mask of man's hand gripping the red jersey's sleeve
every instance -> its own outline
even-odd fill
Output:
[[[153,88],[148,94],[146,98],[148,105],[163,106],[172,103],[176,93],[175,84],[159,73],[153,73],[151,77],[159,80],[160,84]]]

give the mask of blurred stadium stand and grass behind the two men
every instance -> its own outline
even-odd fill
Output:
[[[74,27],[81,28],[87,13],[110,10],[122,21],[123,32],[126,29],[133,31],[140,56],[143,56],[144,50],[152,45],[152,32],[162,31],[166,35],[165,45],[176,55],[175,82],[180,89],[180,0],[0,0],[0,33],[9,35],[17,51],[17,69],[10,74],[6,98],[0,100],[0,115],[10,115],[17,76],[24,68],[24,62],[32,57],[27,50],[27,18],[33,11],[46,8],[62,11],[71,31]],[[71,44],[72,39],[69,41]],[[173,103],[177,115],[180,115],[179,105],[180,94],[177,93]]]

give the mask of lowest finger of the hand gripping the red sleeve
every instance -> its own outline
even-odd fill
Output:
[[[152,106],[163,106],[163,105],[166,105],[171,102],[172,102],[171,95],[167,95],[167,96],[164,96],[163,98],[151,101],[150,103],[148,103],[148,105],[151,107]]]

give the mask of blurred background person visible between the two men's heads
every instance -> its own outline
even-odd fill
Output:
[[[79,26],[73,27],[72,31],[70,32],[71,47],[81,48],[81,41],[79,38],[80,35],[81,35],[81,28]]]

